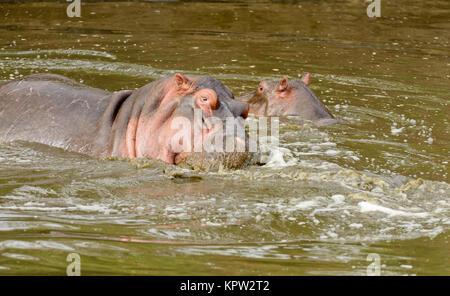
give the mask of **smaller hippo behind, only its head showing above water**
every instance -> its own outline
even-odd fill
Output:
[[[249,113],[254,115],[297,115],[312,121],[317,126],[347,123],[334,118],[308,87],[310,83],[309,73],[306,73],[301,80],[288,80],[286,77],[278,81],[263,80],[256,91],[237,96],[236,99],[249,103]]]

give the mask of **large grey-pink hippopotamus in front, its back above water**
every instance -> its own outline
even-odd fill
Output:
[[[109,92],[61,75],[33,74],[0,85],[0,143],[21,140],[95,157],[238,168],[249,160],[242,149],[248,144],[248,109],[209,76],[177,73],[136,90]],[[237,132],[217,127],[217,120],[227,118],[235,119]],[[198,149],[199,139],[217,149]],[[214,146],[226,141],[236,144],[234,150]]]

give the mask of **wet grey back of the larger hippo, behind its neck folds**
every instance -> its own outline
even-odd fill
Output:
[[[110,94],[54,74],[6,82],[0,86],[0,142],[82,151],[83,138],[95,131]]]

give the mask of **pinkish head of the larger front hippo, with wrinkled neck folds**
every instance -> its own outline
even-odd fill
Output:
[[[132,96],[125,141],[113,154],[203,169],[248,162],[248,104],[234,100],[218,80],[175,74]]]

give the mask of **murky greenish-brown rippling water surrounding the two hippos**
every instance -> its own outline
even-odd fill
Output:
[[[23,1],[22,1],[23,2]],[[0,144],[0,274],[450,275],[450,4],[0,4],[0,80],[137,88],[208,74],[235,94],[311,72],[348,126],[282,119],[264,166],[193,172]],[[250,120],[255,120],[251,119]]]

